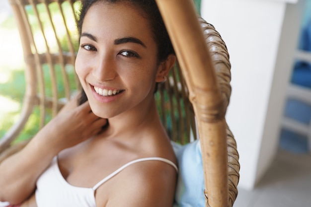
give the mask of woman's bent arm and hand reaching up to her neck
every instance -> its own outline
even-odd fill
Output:
[[[71,101],[21,151],[0,163],[0,201],[23,202],[54,156],[96,135],[106,123],[91,112],[88,102],[77,106]]]

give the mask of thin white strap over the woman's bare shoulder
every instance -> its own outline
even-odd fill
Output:
[[[111,173],[110,175],[108,175],[107,177],[102,179],[101,181],[99,181],[92,189],[95,191],[99,186],[101,186],[106,181],[108,181],[110,178],[112,178],[113,176],[115,176],[116,174],[121,172],[124,168],[126,168],[126,167],[128,167],[134,163],[137,163],[137,162],[149,161],[149,160],[158,160],[158,161],[165,162],[165,163],[173,166],[175,168],[175,170],[178,172],[177,166],[172,161],[170,161],[168,159],[161,158],[161,157],[146,157],[146,158],[136,159],[136,160],[133,160],[131,162],[126,163],[125,165],[123,165],[122,167],[120,167],[119,169],[117,169],[116,171],[114,171],[113,173]]]

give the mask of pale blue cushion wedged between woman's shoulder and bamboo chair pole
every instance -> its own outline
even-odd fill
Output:
[[[204,175],[200,141],[186,145],[172,142],[178,161],[178,181],[173,207],[205,207]]]

